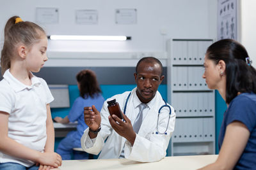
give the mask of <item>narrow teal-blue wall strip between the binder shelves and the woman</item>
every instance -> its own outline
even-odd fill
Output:
[[[227,104],[225,103],[223,98],[220,96],[220,93],[218,92],[218,90],[215,90],[215,103],[216,103],[216,106],[215,106],[216,108],[216,117],[215,117],[216,154],[218,154],[219,153],[218,139],[220,134],[221,122],[223,120],[223,114],[227,110]]]

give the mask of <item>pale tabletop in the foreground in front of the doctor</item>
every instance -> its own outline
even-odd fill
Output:
[[[182,157],[165,157],[159,162],[141,163],[128,159],[93,159],[93,160],[63,160],[61,170],[85,170],[85,169],[198,169],[211,164],[217,159],[218,155],[196,155]]]

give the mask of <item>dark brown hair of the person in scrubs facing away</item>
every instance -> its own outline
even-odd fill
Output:
[[[101,93],[96,74],[89,69],[84,69],[77,73],[77,82],[80,83],[80,96],[86,99],[88,96],[92,98],[95,94]]]

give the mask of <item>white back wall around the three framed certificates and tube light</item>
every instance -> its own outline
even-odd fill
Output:
[[[138,58],[141,52],[166,52],[165,42],[169,38],[216,38],[217,0],[9,0],[0,6],[2,41],[4,24],[8,18],[12,15],[19,15],[23,20],[35,22],[36,7],[54,7],[60,11],[59,24],[42,25],[49,35],[125,35],[132,37],[131,41],[122,42],[49,41],[48,51],[50,53],[134,52],[136,54],[134,58]],[[136,8],[138,24],[116,25],[115,10],[118,8]],[[77,25],[76,10],[98,10],[99,24]],[[166,29],[167,34],[161,35],[161,29]],[[131,54],[131,58],[134,53]]]

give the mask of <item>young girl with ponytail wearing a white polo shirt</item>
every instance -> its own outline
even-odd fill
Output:
[[[47,61],[47,37],[33,22],[14,16],[4,27],[0,81],[0,169],[61,166],[47,83],[34,76]],[[40,164],[40,167],[35,164]]]

